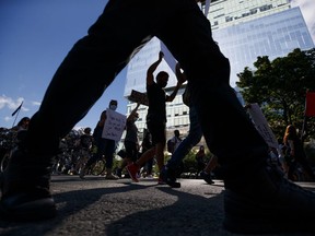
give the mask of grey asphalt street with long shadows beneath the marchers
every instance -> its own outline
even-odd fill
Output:
[[[222,181],[213,186],[199,179],[180,182],[180,189],[171,189],[158,186],[156,179],[135,184],[130,179],[52,176],[58,216],[37,223],[0,222],[0,235],[235,235],[221,228]],[[303,186],[315,189],[314,184]]]

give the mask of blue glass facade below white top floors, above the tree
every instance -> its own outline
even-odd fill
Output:
[[[314,43],[300,8],[293,8],[213,31],[213,38],[231,62],[231,85],[245,67],[254,69],[258,56],[270,60],[285,57],[295,48],[311,49]]]

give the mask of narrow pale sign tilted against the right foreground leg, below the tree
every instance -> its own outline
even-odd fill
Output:
[[[277,139],[272,132],[272,130],[270,129],[266,117],[264,116],[260,107],[258,106],[258,104],[250,104],[249,108],[248,108],[249,115],[256,126],[256,129],[258,130],[258,132],[260,133],[260,135],[264,138],[264,140],[266,141],[266,143],[270,146],[270,148],[275,148],[278,149],[279,144],[277,142]]]

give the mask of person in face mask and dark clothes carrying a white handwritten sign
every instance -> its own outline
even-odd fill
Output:
[[[112,110],[116,110],[117,108],[117,101],[112,99],[109,102],[108,108]],[[114,160],[114,153],[116,149],[115,140],[104,139],[102,138],[104,125],[106,121],[106,110],[103,110],[101,114],[100,120],[94,129],[93,138],[95,145],[97,148],[96,153],[86,162],[84,168],[80,173],[80,178],[84,179],[84,176],[86,174],[86,170],[98,160],[102,158],[103,155],[105,155],[106,158],[106,179],[118,179],[117,176],[115,176],[112,172],[113,168],[113,160]]]

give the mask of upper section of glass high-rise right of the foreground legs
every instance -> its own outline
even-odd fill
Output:
[[[289,0],[217,0],[208,19],[214,40],[230,59],[232,86],[245,67],[254,69],[258,56],[273,60],[295,48],[314,47],[300,8],[291,9]]]

